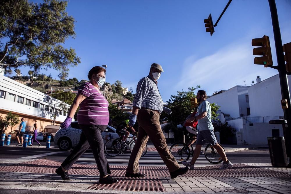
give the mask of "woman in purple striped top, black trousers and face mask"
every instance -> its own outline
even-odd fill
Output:
[[[82,129],[79,144],[63,161],[61,166],[56,169],[56,173],[61,175],[63,180],[70,180],[68,170],[91,147],[100,172],[99,183],[112,184],[118,181],[110,176],[111,171],[104,154],[104,144],[101,136],[109,122],[109,104],[99,89],[105,82],[105,71],[103,67],[98,66],[89,71],[88,78],[90,81],[79,88],[74,103],[68,112],[68,117],[61,124],[61,128],[68,128],[77,108],[80,106],[77,114],[78,124]]]

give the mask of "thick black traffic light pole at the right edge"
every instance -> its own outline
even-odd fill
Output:
[[[290,92],[289,92],[289,86],[288,86],[288,77],[287,77],[288,74],[285,67],[283,45],[282,45],[276,3],[275,3],[275,0],[268,0],[268,1],[269,1],[272,24],[273,24],[274,40],[275,40],[276,55],[277,55],[277,62],[278,62],[277,67],[278,67],[278,72],[279,72],[279,77],[280,77],[282,99],[286,99],[287,104],[288,104],[288,108],[283,109],[285,120],[287,120],[287,123],[288,123],[288,126],[283,131],[283,133],[285,137],[287,156],[289,156],[289,159],[290,159],[291,157],[291,154],[290,154],[291,152],[290,151],[291,149],[291,100],[290,100]],[[290,165],[291,163],[289,163],[288,167],[291,167]]]

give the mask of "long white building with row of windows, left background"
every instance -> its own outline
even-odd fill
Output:
[[[60,104],[63,102],[0,74],[0,115],[5,117],[11,111],[19,115],[19,121],[25,118],[27,131],[32,129],[34,123],[42,129],[51,124],[54,117],[56,124],[62,123],[68,113],[59,108]],[[18,128],[19,124],[6,132]]]

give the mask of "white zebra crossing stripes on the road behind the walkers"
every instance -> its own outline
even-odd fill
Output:
[[[127,151],[124,154],[119,154],[118,156],[112,157],[106,155],[109,165],[127,165],[130,157],[130,152]],[[190,157],[191,159],[191,157]],[[63,159],[65,160],[65,159]],[[182,161],[178,161],[180,165]],[[84,153],[76,163],[79,164],[96,164],[95,158],[92,152]],[[165,166],[164,161],[161,159],[157,151],[147,152],[145,156],[141,157],[139,160],[140,166]],[[204,154],[200,155],[196,161],[195,166],[211,166],[214,164],[209,163]]]

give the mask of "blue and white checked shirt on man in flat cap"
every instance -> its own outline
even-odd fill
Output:
[[[150,108],[162,113],[164,103],[158,85],[150,75],[139,80],[132,106]]]

